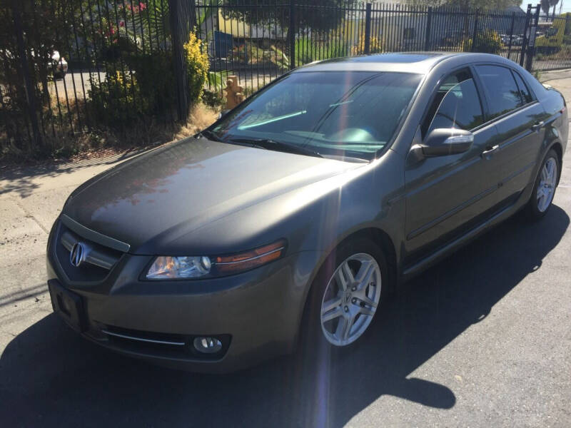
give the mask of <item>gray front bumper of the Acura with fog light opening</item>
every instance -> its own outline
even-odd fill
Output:
[[[93,285],[68,280],[53,256],[49,251],[48,279],[81,297],[84,337],[168,367],[229,372],[293,351],[320,254],[295,253],[230,277],[163,282],[140,279],[150,256],[125,254]],[[223,352],[193,350],[202,336],[221,338]]]

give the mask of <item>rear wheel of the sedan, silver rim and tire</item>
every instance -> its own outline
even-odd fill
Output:
[[[555,170],[552,168],[555,168]],[[559,156],[557,156],[554,150],[550,150],[543,158],[535,178],[530,200],[527,203],[527,215],[531,220],[540,220],[551,208],[560,174],[561,162]]]

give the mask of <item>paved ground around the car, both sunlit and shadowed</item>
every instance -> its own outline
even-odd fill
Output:
[[[571,73],[548,77],[571,100]],[[516,215],[408,282],[354,352],[226,375],[115,355],[51,313],[51,223],[121,160],[0,170],[0,425],[571,426],[569,151],[543,220]]]

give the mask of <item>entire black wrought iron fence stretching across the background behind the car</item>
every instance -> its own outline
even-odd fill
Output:
[[[13,0],[0,11],[0,148],[101,126],[184,121],[183,44],[195,31],[207,85],[246,96],[312,61],[404,51],[484,51],[530,71],[571,67],[571,16],[339,0]]]

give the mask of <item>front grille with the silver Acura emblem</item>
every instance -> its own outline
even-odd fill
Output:
[[[77,227],[74,229],[76,230],[72,230],[64,222],[61,222],[57,230],[54,240],[54,253],[61,270],[64,271],[69,280],[74,282],[104,280],[124,253],[96,243],[94,240],[77,233],[79,230]],[[73,265],[71,253],[76,245],[81,245],[81,250],[76,250],[81,251],[81,257],[76,259],[79,264]]]

